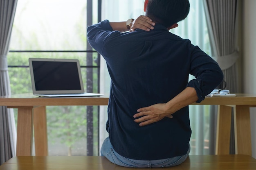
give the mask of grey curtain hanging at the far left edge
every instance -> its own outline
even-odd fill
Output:
[[[11,95],[7,53],[17,0],[0,0],[0,96]],[[16,154],[13,110],[0,107],[0,165]]]

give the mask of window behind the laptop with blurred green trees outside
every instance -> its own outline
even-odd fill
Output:
[[[18,1],[8,54],[12,94],[32,92],[30,57],[79,59],[84,89],[99,92],[99,54],[86,39],[99,20],[98,1]],[[97,106],[47,107],[49,155],[98,155],[98,115]]]

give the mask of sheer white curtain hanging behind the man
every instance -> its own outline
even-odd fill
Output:
[[[187,38],[194,45],[211,54],[207,24],[204,15],[202,0],[190,1],[191,10],[186,20],[179,22],[179,27],[171,30],[172,33],[182,38]],[[126,21],[144,15],[144,0],[102,0],[102,19],[110,21]],[[110,77],[106,68],[106,62],[101,59],[100,90],[103,94],[109,94]],[[192,78],[192,77],[191,77]],[[189,106],[191,118],[191,155],[203,155],[214,153],[214,126],[215,118],[209,106]],[[100,110],[100,147],[103,140],[108,136],[105,124],[107,109]],[[210,121],[211,120],[211,121]]]

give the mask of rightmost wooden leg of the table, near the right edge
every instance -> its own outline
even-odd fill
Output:
[[[234,113],[236,154],[252,156],[250,108],[237,105]]]

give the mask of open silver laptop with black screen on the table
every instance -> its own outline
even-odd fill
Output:
[[[29,58],[33,94],[40,97],[83,97],[102,94],[84,92],[77,59]]]

